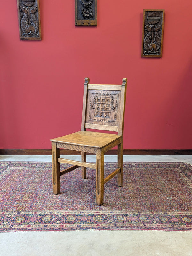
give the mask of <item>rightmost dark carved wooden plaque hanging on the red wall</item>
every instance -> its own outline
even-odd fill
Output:
[[[164,10],[143,10],[142,57],[161,57]]]

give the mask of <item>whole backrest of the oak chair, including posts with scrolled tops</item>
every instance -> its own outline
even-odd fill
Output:
[[[85,78],[81,130],[116,131],[123,135],[127,78],[120,85],[89,84]]]

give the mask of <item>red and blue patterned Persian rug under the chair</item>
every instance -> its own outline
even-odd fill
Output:
[[[61,164],[61,170],[68,166]],[[95,170],[61,176],[52,193],[52,163],[0,162],[0,231],[192,230],[192,166],[124,162],[123,187],[105,184],[95,203]],[[105,164],[105,176],[116,163]]]

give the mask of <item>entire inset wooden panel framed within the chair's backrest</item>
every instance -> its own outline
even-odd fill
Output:
[[[120,91],[89,90],[86,123],[118,125]]]

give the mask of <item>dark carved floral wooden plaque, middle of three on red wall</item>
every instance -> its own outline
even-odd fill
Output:
[[[97,26],[97,0],[75,0],[75,25]]]

